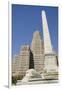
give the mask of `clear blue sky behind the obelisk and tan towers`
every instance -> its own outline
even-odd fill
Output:
[[[31,44],[33,33],[38,30],[43,39],[41,11],[45,10],[53,49],[58,53],[58,8],[12,4],[12,54],[21,45]]]

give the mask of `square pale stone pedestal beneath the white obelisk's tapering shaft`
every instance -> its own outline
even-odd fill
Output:
[[[45,54],[43,76],[44,79],[58,79],[56,54]]]

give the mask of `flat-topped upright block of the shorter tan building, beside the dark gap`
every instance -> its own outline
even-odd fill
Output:
[[[29,45],[21,46],[19,59],[19,72],[20,75],[25,75],[26,71],[29,69],[29,60],[30,60],[30,47]]]

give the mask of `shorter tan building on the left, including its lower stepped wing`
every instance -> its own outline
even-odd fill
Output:
[[[16,55],[12,60],[12,74],[25,75],[26,70],[29,69],[30,48],[29,45],[21,46],[19,55]]]

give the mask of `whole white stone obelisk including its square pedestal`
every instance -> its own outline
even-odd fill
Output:
[[[45,55],[44,71],[49,74],[56,73],[57,72],[57,60],[56,60],[56,55],[52,49],[46,13],[44,10],[42,11],[41,16],[42,16],[42,25],[43,25],[44,55]],[[53,76],[53,75],[50,75],[50,76]]]

